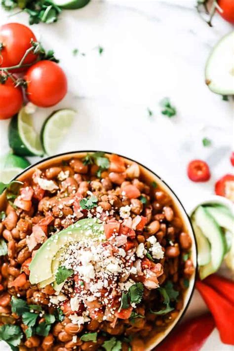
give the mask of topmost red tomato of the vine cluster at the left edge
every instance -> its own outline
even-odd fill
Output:
[[[11,67],[18,65],[23,58],[25,51],[31,45],[31,39],[36,41],[36,37],[30,28],[20,23],[7,23],[0,27],[0,67]],[[29,53],[24,64],[34,62],[37,55]],[[12,70],[11,72],[24,72],[27,68]]]

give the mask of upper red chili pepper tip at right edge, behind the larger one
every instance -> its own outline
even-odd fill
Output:
[[[234,282],[217,274],[207,276],[202,282],[211,286],[223,295],[231,304],[234,304]]]

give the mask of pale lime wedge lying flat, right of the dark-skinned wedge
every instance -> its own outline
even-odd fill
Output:
[[[68,133],[76,112],[69,109],[59,110],[50,115],[40,132],[41,142],[47,155],[54,155],[59,144]]]

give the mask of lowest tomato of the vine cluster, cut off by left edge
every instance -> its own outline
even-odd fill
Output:
[[[0,83],[0,119],[14,116],[23,104],[23,93],[20,87],[15,87],[11,78]]]

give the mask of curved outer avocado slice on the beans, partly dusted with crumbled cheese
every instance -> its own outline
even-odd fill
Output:
[[[61,232],[53,234],[39,248],[29,266],[30,283],[41,283],[45,286],[54,281],[52,262],[62,248],[83,239],[93,240],[100,236],[102,240],[103,235],[104,227],[96,218],[81,219]]]

